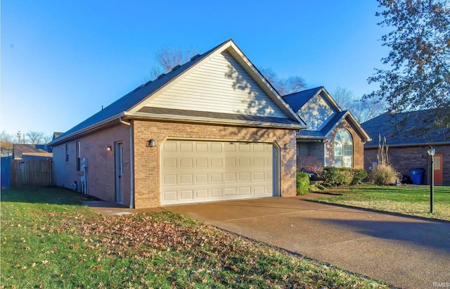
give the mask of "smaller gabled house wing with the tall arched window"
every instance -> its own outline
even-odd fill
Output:
[[[283,96],[307,123],[297,133],[299,170],[322,167],[362,169],[369,135],[349,110],[342,110],[323,86]]]

